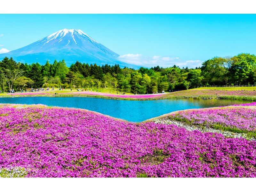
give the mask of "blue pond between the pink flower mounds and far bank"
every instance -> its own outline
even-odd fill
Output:
[[[115,100],[93,97],[3,97],[0,103],[45,104],[97,111],[115,118],[141,122],[172,111],[248,103],[221,99],[166,99],[149,101]]]

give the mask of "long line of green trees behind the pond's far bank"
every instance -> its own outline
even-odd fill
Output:
[[[213,57],[196,69],[174,65],[167,68],[141,67],[139,70],[120,68],[119,65],[89,65],[79,61],[68,68],[64,60],[28,65],[5,57],[0,61],[0,80],[2,91],[46,87],[115,88],[139,94],[204,85],[254,85],[256,56],[241,53],[234,57]]]

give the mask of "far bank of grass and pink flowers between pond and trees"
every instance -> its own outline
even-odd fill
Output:
[[[236,87],[243,88],[243,87]],[[255,87],[247,87],[255,88]],[[254,90],[232,90],[232,87],[228,87],[226,90],[220,89],[189,89],[164,94],[146,94],[146,95],[134,95],[134,94],[116,94],[110,93],[107,89],[106,92],[97,91],[70,91],[70,89],[64,90],[50,90],[43,92],[27,92],[27,93],[14,93],[14,94],[0,94],[0,97],[34,97],[34,96],[58,96],[58,97],[100,97],[107,99],[122,99],[122,100],[159,100],[159,99],[171,99],[171,98],[202,98],[202,99],[234,99],[234,100],[249,100],[256,101],[256,91]]]

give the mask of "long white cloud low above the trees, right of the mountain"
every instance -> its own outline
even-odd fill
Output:
[[[152,67],[152,66],[162,66],[162,67],[170,67],[173,65],[188,68],[195,68],[196,66],[201,66],[201,60],[181,60],[179,57],[162,57],[162,56],[153,56],[147,57],[142,54],[125,54],[118,57],[119,60],[126,62],[128,64],[134,64],[144,67]]]

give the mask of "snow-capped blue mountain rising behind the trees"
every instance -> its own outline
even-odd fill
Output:
[[[44,65],[64,59],[68,66],[76,60],[89,64],[119,64],[126,67],[138,67],[126,64],[118,59],[119,55],[109,50],[82,30],[62,29],[23,48],[0,54],[0,59],[13,57],[23,63]]]

